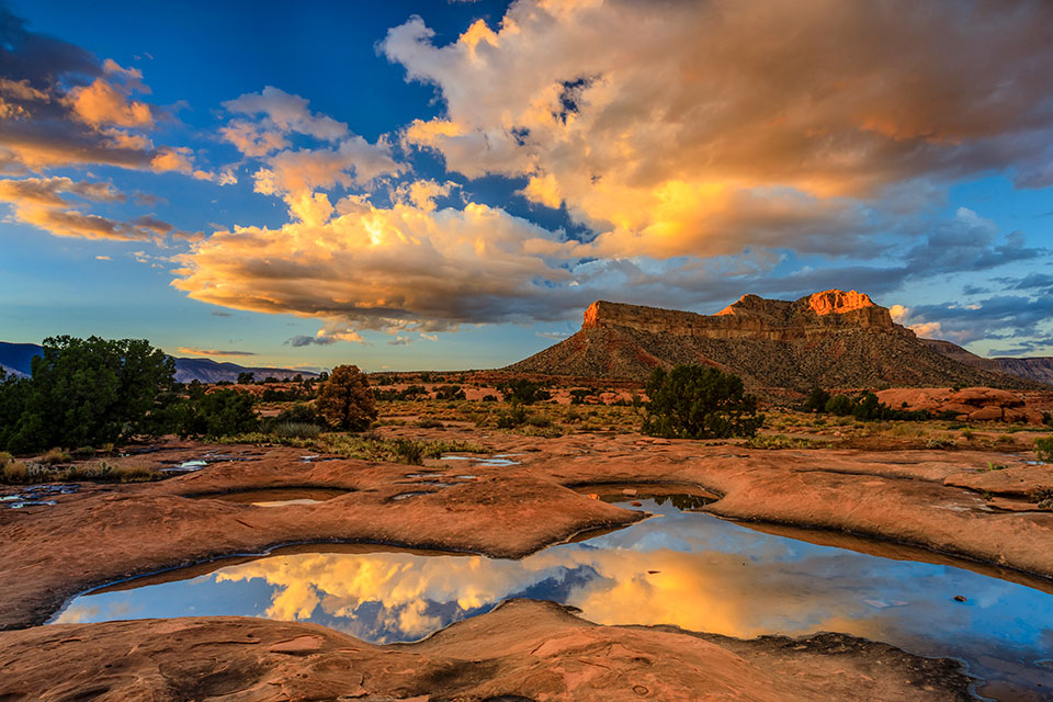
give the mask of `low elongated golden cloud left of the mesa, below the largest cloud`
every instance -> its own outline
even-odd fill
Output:
[[[329,320],[318,338],[293,344],[329,343],[353,329],[530,321],[562,315],[553,298],[571,280],[548,237],[475,203],[432,211],[356,201],[321,225],[216,231],[178,257],[173,285],[224,307]]]

